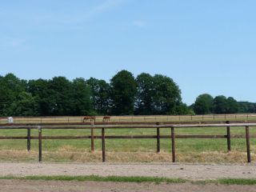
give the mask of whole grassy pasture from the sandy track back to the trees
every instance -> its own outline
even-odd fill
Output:
[[[157,120],[161,120],[162,118],[162,116],[155,117]],[[82,117],[65,117],[65,121],[67,118],[69,121],[78,121],[79,119],[82,119]],[[111,117],[111,121],[118,121],[118,118],[126,119],[126,121],[128,119],[128,117]],[[145,117],[142,119],[144,118]],[[189,121],[188,117],[186,118]],[[235,117],[232,117],[232,119],[234,118]],[[237,119],[238,118],[240,118],[240,116],[237,116]],[[248,116],[248,118],[252,117]],[[62,121],[58,118],[50,120],[63,122],[63,119],[64,118],[62,117]],[[99,119],[100,117],[97,117],[96,121],[99,121]],[[167,117],[166,119],[170,119],[170,117]],[[20,122],[51,122],[47,118],[18,118],[18,120]],[[14,118],[14,122],[18,122],[17,119]],[[94,135],[101,135],[101,130],[94,131]],[[231,127],[230,131],[231,135],[245,135],[244,127]],[[124,136],[156,135],[156,129],[107,129],[105,134]],[[160,129],[160,134],[170,135],[170,129]],[[225,135],[226,127],[176,129],[175,134]],[[250,128],[250,134],[256,134],[256,129],[254,127]],[[90,135],[90,130],[42,130],[42,135],[82,136]],[[26,136],[26,130],[0,130],[0,136]],[[38,130],[31,130],[31,136],[38,136]],[[176,138],[175,142],[177,162],[246,162],[245,138],[231,138],[231,151],[229,153],[227,153],[226,138]],[[101,139],[94,139],[94,152],[91,152],[90,139],[42,140],[43,162],[102,162],[101,143]],[[161,152],[156,153],[156,139],[106,139],[106,162],[171,162],[170,138],[161,138],[160,146]],[[255,162],[255,138],[250,138],[250,150],[252,162]],[[26,139],[0,140],[0,160],[12,162],[37,162],[38,140],[31,140],[30,152],[26,151]]]

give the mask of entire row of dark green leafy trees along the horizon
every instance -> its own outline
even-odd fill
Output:
[[[255,103],[199,95],[192,106],[182,102],[172,78],[146,73],[135,78],[121,70],[106,82],[59,76],[24,80],[0,75],[0,116],[225,114],[254,113]]]

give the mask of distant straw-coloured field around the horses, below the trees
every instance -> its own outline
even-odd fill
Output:
[[[26,122],[82,122],[83,116],[64,117],[14,117],[14,123]],[[96,116],[96,122],[102,122],[103,116]],[[210,115],[130,115],[111,116],[111,122],[190,122],[190,121],[256,121],[256,114],[210,114]],[[0,123],[6,123],[6,117],[0,117]]]

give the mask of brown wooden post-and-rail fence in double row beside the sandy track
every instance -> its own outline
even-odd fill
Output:
[[[231,135],[230,127],[244,127],[245,135]],[[26,136],[1,136],[0,139],[26,139],[27,140],[27,150],[30,150],[30,141],[31,139],[38,139],[38,161],[42,162],[42,140],[44,139],[85,139],[88,138],[91,141],[91,151],[94,151],[94,139],[102,140],[102,162],[106,162],[106,139],[122,139],[122,138],[130,138],[130,139],[143,139],[143,138],[151,138],[157,140],[156,152],[160,152],[160,139],[161,138],[170,138],[171,139],[171,151],[172,151],[172,161],[176,162],[175,155],[175,139],[176,138],[226,138],[227,142],[227,151],[231,150],[230,139],[231,138],[246,138],[246,153],[247,153],[247,162],[251,162],[250,158],[250,138],[256,138],[256,135],[250,135],[249,128],[252,126],[256,126],[256,123],[237,123],[237,122],[225,122],[225,123],[210,123],[210,124],[170,124],[170,123],[162,123],[162,122],[154,122],[154,123],[146,123],[146,122],[101,122],[98,124],[85,123],[85,124],[71,124],[71,123],[62,123],[62,124],[12,124],[12,125],[0,125],[0,130],[3,129],[26,129]],[[180,128],[198,128],[198,127],[224,127],[226,128],[226,134],[208,134],[208,135],[184,135],[184,134],[175,134],[175,129]],[[106,135],[106,129],[156,129],[156,135]],[[31,136],[31,129],[38,130],[38,136]],[[79,135],[79,136],[42,136],[42,130],[46,129],[58,129],[58,130],[66,130],[66,129],[90,129],[90,135]],[[95,129],[101,129],[101,135],[94,135]],[[170,129],[169,135],[160,134],[161,129]]]

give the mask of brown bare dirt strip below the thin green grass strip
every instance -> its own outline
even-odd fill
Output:
[[[255,186],[218,186],[214,184],[193,185],[185,184],[160,184],[154,183],[120,183],[120,182],[60,182],[60,181],[21,181],[21,180],[1,180],[1,191],[27,192],[27,191],[47,191],[47,192],[151,192],[151,191],[203,191],[203,192],[253,192]]]

